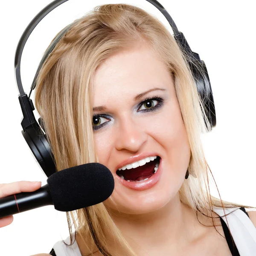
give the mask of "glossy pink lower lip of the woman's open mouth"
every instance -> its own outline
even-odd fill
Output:
[[[160,158],[157,172],[153,174],[150,178],[148,178],[148,180],[133,182],[133,181],[124,180],[121,177],[119,177],[117,174],[116,174],[116,177],[118,178],[118,180],[120,180],[123,186],[126,186],[129,189],[142,191],[142,190],[150,189],[151,187],[153,187],[160,180],[161,174],[162,174],[162,158]]]

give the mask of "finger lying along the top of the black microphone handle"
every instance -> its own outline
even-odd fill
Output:
[[[0,198],[20,192],[32,192],[41,187],[41,181],[17,181],[12,183],[0,184]]]

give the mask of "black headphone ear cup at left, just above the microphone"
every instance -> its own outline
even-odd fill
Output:
[[[33,122],[26,127],[26,131],[22,130],[21,133],[47,177],[55,173],[54,157],[38,122]]]

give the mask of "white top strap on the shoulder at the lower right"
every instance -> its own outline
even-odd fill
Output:
[[[224,216],[222,208],[214,207],[214,212],[220,216]],[[234,212],[233,212],[234,211]],[[230,213],[232,212],[232,213]],[[222,219],[229,224],[230,233],[234,239],[237,250],[240,256],[255,256],[256,255],[256,227],[248,216],[239,208],[225,208],[227,220]]]

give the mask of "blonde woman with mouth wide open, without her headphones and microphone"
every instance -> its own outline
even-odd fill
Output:
[[[54,245],[57,256],[230,256],[236,246],[245,255],[219,215],[250,229],[256,215],[209,193],[206,118],[186,58],[154,17],[111,4],[77,20],[45,61],[35,105],[57,169],[98,161],[115,179],[108,200],[70,213],[76,240],[70,230],[67,245]],[[14,184],[2,191],[13,194]]]

